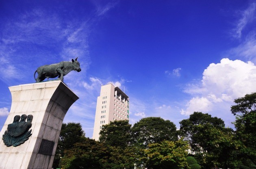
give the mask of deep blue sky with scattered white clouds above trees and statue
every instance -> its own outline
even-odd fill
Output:
[[[34,83],[45,64],[78,57],[64,77],[80,99],[64,122],[92,137],[101,85],[130,97],[130,123],[160,116],[179,128],[194,111],[235,120],[235,98],[256,92],[252,0],[0,1],[0,129],[10,86]]]

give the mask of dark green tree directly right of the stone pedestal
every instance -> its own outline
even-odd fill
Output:
[[[63,123],[52,167],[58,168],[59,161],[64,156],[64,150],[73,148],[75,143],[82,142],[83,139],[85,139],[85,132],[80,123]]]

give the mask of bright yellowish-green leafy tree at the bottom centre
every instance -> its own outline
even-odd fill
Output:
[[[145,149],[149,169],[179,169],[187,167],[186,156],[189,144],[182,139],[149,144]]]

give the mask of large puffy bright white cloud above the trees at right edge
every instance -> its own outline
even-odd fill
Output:
[[[256,66],[248,61],[221,59],[211,63],[204,70],[201,82],[188,85],[184,91],[194,96],[181,114],[189,115],[194,111],[209,112],[223,102],[232,101],[256,91]]]

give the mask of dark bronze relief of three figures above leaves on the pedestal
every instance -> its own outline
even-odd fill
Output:
[[[26,121],[27,119],[27,121]],[[4,145],[9,146],[20,146],[28,140],[30,137],[31,131],[28,131],[32,126],[33,116],[22,114],[22,116],[16,115],[14,117],[13,123],[9,124],[7,131],[4,132],[3,141]]]

